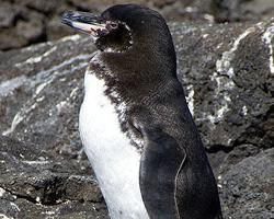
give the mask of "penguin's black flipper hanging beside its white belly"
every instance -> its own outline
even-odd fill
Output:
[[[141,130],[140,192],[151,219],[179,219],[176,177],[186,154],[173,137],[157,129]]]

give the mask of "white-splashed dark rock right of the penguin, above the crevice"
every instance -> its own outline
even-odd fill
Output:
[[[273,23],[222,27],[224,36],[219,25],[193,26],[174,36],[182,67],[179,77],[196,124],[209,151],[242,143],[271,148]]]

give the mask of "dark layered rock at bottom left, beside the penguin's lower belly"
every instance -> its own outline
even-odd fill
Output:
[[[64,159],[50,138],[28,142],[0,137],[0,212],[10,218],[107,218],[87,163]]]

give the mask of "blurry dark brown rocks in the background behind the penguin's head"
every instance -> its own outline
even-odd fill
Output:
[[[66,10],[100,13],[110,5],[130,2],[156,9],[168,21],[267,21],[274,15],[273,0],[1,0],[0,50],[71,34],[59,22]]]

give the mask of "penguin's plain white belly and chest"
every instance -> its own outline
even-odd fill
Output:
[[[118,116],[104,95],[104,82],[87,72],[79,128],[113,219],[149,218],[139,188],[140,154],[122,132]]]

